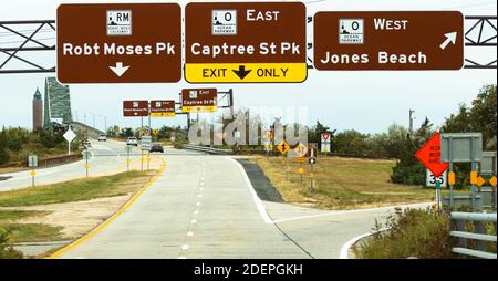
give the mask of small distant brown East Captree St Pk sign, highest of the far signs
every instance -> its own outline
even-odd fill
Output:
[[[218,91],[216,89],[181,90],[181,112],[216,112]]]

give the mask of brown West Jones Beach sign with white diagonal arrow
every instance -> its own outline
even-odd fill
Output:
[[[459,70],[458,11],[318,12],[314,66],[333,70]]]

